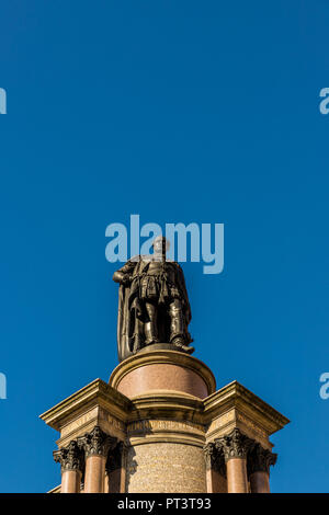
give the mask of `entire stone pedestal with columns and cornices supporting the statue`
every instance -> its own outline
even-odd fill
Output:
[[[80,453],[61,491],[80,476],[86,493],[269,491],[269,437],[288,420],[237,381],[215,390],[200,359],[154,345],[52,408],[55,459]]]

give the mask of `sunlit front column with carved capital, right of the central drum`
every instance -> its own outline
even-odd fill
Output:
[[[247,453],[253,440],[237,427],[215,440],[216,447],[224,453],[227,472],[228,493],[248,493]]]

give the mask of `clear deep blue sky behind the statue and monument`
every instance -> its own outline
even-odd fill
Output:
[[[116,366],[105,228],[224,222],[184,266],[195,356],[292,420],[274,492],[328,492],[325,0],[0,8],[0,491],[58,484],[38,414]]]

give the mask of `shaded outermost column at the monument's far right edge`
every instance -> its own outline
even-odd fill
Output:
[[[251,493],[270,493],[270,466],[275,465],[277,455],[256,444],[248,455],[248,477]]]

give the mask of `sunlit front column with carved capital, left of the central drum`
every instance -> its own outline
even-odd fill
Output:
[[[106,435],[98,425],[78,438],[78,445],[86,455],[84,493],[104,491],[106,457],[115,444],[116,438]]]

